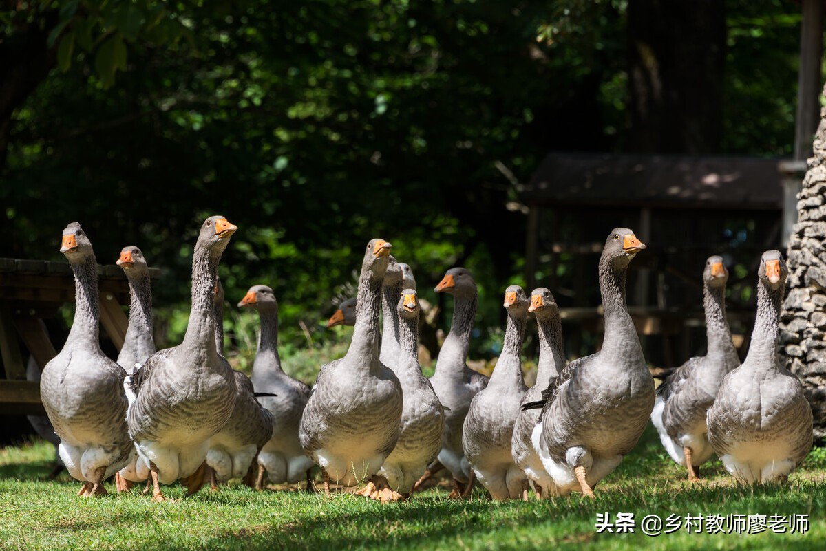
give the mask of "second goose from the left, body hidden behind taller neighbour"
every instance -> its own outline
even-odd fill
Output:
[[[116,264],[121,266],[129,282],[129,327],[126,329],[121,353],[117,356],[117,364],[126,372],[123,387],[131,406],[135,402],[135,393],[131,390],[132,376],[155,351],[152,335],[152,287],[149,266],[140,248],[134,245],[123,247]],[[146,482],[149,474],[149,464],[135,453],[129,464],[115,474],[117,491],[131,489],[132,483]]]

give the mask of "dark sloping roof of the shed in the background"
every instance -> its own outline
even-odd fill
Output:
[[[778,158],[549,153],[527,205],[781,210]]]

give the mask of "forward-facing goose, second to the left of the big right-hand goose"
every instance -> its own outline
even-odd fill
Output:
[[[519,285],[510,285],[505,290],[505,342],[487,388],[473,397],[462,433],[465,457],[476,478],[496,501],[522,497],[528,486],[525,473],[514,462],[510,444],[527,390],[522,379],[521,353],[528,306],[528,297]]]

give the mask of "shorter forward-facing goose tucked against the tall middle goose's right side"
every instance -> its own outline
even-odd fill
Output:
[[[392,490],[405,497],[439,454],[444,431],[442,404],[419,366],[419,310],[415,290],[402,290],[396,306],[401,346],[393,371],[401,382],[404,408],[396,447],[378,471]]]

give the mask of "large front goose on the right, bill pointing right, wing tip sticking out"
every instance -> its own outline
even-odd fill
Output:
[[[548,384],[534,427],[534,450],[560,495],[591,489],[634,448],[654,406],[654,379],[625,305],[625,275],[645,245],[628,228],[615,228],[600,257],[605,338],[596,354],[569,363]]]

